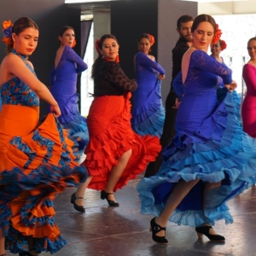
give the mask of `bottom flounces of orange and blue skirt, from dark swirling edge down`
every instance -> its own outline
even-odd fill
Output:
[[[84,181],[84,167],[40,166],[26,175],[19,168],[0,173],[0,223],[11,253],[28,250],[26,236],[35,249],[55,253],[66,244],[55,224],[53,200],[67,187]]]

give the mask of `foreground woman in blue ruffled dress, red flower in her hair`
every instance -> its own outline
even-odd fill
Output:
[[[221,32],[210,15],[197,16],[191,32],[193,42],[173,81],[182,98],[176,136],[164,149],[160,171],[137,185],[141,211],[156,216],[150,230],[153,240],[161,244],[168,242],[168,221],[195,227],[200,239],[205,235],[225,241],[212,225],[220,219],[232,223],[226,201],[256,181],[255,142],[242,131],[238,104],[230,93],[236,82],[229,67],[207,54]]]

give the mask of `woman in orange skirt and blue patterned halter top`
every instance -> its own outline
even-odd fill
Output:
[[[53,200],[84,182],[77,142],[61,129],[61,110],[28,56],[38,45],[38,25],[22,17],[3,22],[8,55],[0,67],[0,255],[55,253],[67,242],[55,224]],[[51,113],[38,126],[39,98]]]

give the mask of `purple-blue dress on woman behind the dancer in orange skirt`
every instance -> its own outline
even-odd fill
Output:
[[[82,154],[89,141],[86,119],[79,113],[77,94],[78,74],[87,69],[87,64],[69,46],[65,46],[57,67],[50,74],[50,92],[61,109],[58,118],[71,137],[79,137],[79,152]]]

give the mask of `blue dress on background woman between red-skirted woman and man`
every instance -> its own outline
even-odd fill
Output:
[[[139,135],[160,137],[165,121],[162,105],[161,81],[158,74],[165,74],[160,64],[152,61],[142,52],[135,61],[137,90],[133,93],[131,127]]]

